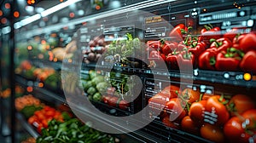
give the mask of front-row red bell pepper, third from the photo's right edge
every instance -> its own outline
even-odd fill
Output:
[[[215,70],[216,52],[213,50],[206,50],[199,56],[198,66],[204,70]]]

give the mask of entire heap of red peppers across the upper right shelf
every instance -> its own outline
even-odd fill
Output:
[[[242,28],[222,34],[219,27],[205,26],[199,36],[190,27],[175,26],[170,41],[148,41],[148,60],[168,67],[199,67],[216,71],[243,71],[256,73],[256,35]],[[161,65],[162,63],[160,63]]]

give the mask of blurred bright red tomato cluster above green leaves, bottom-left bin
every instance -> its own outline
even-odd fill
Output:
[[[28,123],[37,128],[38,133],[41,133],[42,128],[48,128],[48,123],[52,119],[64,122],[61,112],[50,106],[44,106],[42,110],[34,112],[32,117],[28,118]]]

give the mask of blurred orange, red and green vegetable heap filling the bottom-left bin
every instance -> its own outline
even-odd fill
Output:
[[[92,129],[90,122],[84,124],[68,112],[61,112],[53,107],[45,106],[31,94],[16,98],[15,106],[41,135],[36,139],[36,142],[110,143],[119,141],[110,134]]]

